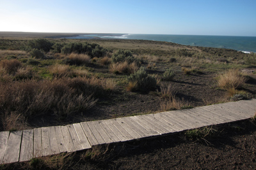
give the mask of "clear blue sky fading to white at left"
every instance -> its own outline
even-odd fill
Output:
[[[0,31],[256,36],[255,0],[0,0]]]

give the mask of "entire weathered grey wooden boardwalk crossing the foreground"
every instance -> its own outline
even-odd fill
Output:
[[[256,99],[252,99],[188,110],[0,132],[0,164],[244,120],[252,118],[255,109]]]

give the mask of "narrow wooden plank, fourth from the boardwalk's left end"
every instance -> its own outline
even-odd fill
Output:
[[[42,128],[34,129],[34,157],[42,157]]]

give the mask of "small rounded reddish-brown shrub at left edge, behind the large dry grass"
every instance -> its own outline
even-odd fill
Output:
[[[1,60],[0,62],[0,68],[8,74],[15,74],[20,67],[22,67],[22,63],[17,59]]]

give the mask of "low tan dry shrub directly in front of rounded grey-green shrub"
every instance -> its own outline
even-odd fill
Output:
[[[129,64],[127,61],[125,62],[118,62],[118,63],[113,63],[111,64],[109,70],[112,73],[134,73],[139,69],[138,65],[136,62],[132,62]]]

